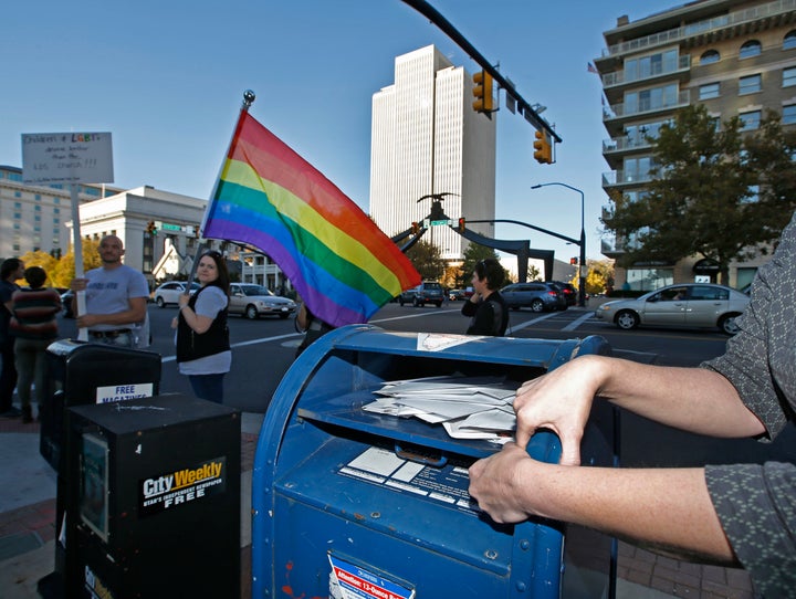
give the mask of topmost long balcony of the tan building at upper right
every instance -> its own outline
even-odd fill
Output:
[[[713,35],[722,30],[743,31],[758,21],[776,19],[796,9],[796,0],[777,0],[760,7],[753,7],[730,14],[721,14],[713,19],[698,21],[677,29],[652,33],[643,38],[637,38],[619,44],[614,44],[603,50],[603,57],[608,59],[619,54],[639,52],[658,48],[664,44],[680,43],[689,38]],[[765,24],[765,23],[764,23]]]

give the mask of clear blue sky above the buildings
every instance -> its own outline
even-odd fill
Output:
[[[499,219],[578,238],[584,191],[587,256],[599,259],[600,83],[587,63],[603,31],[679,6],[646,0],[430,0],[514,82],[564,143],[557,162],[533,159],[534,129],[498,114]],[[392,83],[395,56],[437,45],[475,63],[400,0],[75,0],[3,7],[0,164],[22,166],[23,133],[111,132],[114,185],[208,198],[243,91],[251,114],[368,211],[370,101]],[[503,105],[501,94],[501,106]],[[451,214],[454,217],[454,214]],[[407,223],[408,225],[408,223]],[[576,246],[499,224],[568,261]]]

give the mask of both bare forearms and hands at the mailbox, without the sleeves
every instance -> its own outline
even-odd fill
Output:
[[[696,392],[700,401],[693,400]],[[764,432],[718,372],[583,356],[517,390],[516,443],[470,469],[470,493],[479,505],[496,522],[551,517],[678,549],[680,555],[734,564],[703,469],[576,467],[595,397],[702,434]],[[537,462],[525,452],[537,429],[558,434],[561,464]]]

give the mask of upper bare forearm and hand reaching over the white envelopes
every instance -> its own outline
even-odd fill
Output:
[[[526,381],[514,400],[515,440],[525,448],[537,429],[562,441],[562,464],[580,462],[580,439],[596,396],[657,422],[713,437],[765,432],[757,417],[719,372],[582,356]]]

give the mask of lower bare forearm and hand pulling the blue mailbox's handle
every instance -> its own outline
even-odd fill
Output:
[[[642,540],[681,557],[737,564],[702,469],[545,464],[507,443],[470,467],[470,494],[499,523],[543,516]]]

